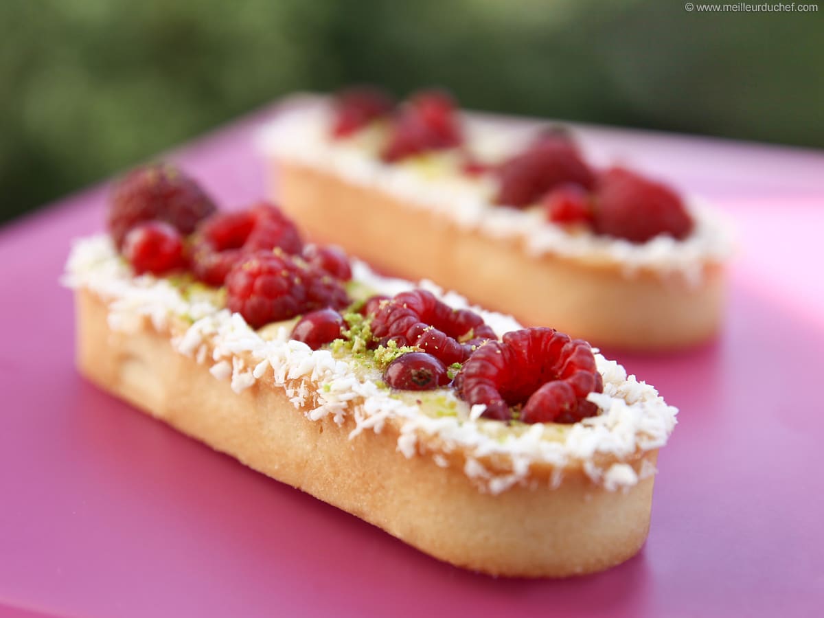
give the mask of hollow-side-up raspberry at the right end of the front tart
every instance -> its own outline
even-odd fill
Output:
[[[513,330],[489,341],[466,361],[456,389],[470,405],[484,404],[490,419],[524,423],[576,423],[597,406],[586,398],[603,381],[586,341],[551,328]]]

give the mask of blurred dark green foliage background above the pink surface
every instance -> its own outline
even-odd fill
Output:
[[[821,9],[2,0],[0,220],[289,91],[350,82],[397,95],[437,84],[475,109],[822,147]]]

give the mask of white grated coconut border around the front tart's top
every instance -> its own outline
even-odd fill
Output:
[[[378,293],[387,295],[414,288],[400,279],[386,279],[372,273],[366,265],[353,263],[354,278]],[[533,462],[547,463],[560,470],[574,461],[583,461],[584,470],[593,482],[606,489],[635,485],[639,480],[631,466],[610,463],[606,468],[593,461],[606,455],[614,461],[636,452],[662,447],[675,426],[677,409],[667,405],[653,386],[627,376],[615,361],[596,353],[598,371],[604,390],[589,399],[599,414],[559,431],[557,425],[533,424],[518,433],[498,421],[480,418],[482,406],[470,406],[457,400],[451,390],[444,397],[455,405],[455,416],[433,417],[419,406],[409,405],[376,383],[378,375],[358,371],[345,360],[335,358],[330,350],[312,350],[300,341],[289,339],[289,329],[279,326],[264,338],[252,330],[239,314],[216,307],[208,294],[190,293],[183,297],[165,279],[151,275],[134,277],[129,266],[119,258],[109,236],[91,236],[73,245],[63,283],[70,288],[87,288],[110,303],[109,325],[114,330],[139,328],[143,318],[162,329],[172,317],[193,321],[183,335],[172,339],[179,353],[207,363],[218,380],[228,380],[232,390],[241,392],[256,380],[266,377],[282,387],[293,405],[308,419],[326,416],[342,424],[351,414],[355,428],[350,438],[364,431],[380,432],[387,419],[400,424],[398,451],[415,456],[419,440],[438,438],[445,451],[457,447],[468,453],[464,471],[479,489],[497,494],[527,480]],[[433,283],[420,287],[432,290],[452,307],[467,307],[456,293],[443,293]],[[478,311],[498,335],[520,328],[512,317]],[[211,358],[205,343],[213,347]],[[252,358],[246,366],[243,358]],[[507,456],[511,471],[493,474],[479,461],[489,455]],[[435,452],[438,466],[448,465],[447,458]],[[640,476],[653,474],[647,468]],[[561,482],[555,475],[553,485]]]

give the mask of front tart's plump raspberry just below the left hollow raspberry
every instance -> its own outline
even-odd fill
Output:
[[[226,285],[229,309],[240,313],[253,328],[349,304],[335,279],[281,250],[245,255],[232,266]]]

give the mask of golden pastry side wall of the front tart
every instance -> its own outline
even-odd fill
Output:
[[[625,491],[578,473],[557,489],[536,482],[482,493],[461,467],[398,452],[391,424],[350,440],[350,414],[342,426],[329,415],[311,421],[264,380],[236,394],[148,320],[134,332],[110,330],[106,303],[84,289],[76,307],[77,365],[92,382],[438,559],[494,575],[564,577],[607,569],[644,544],[653,476]],[[657,454],[642,461],[654,465]]]

